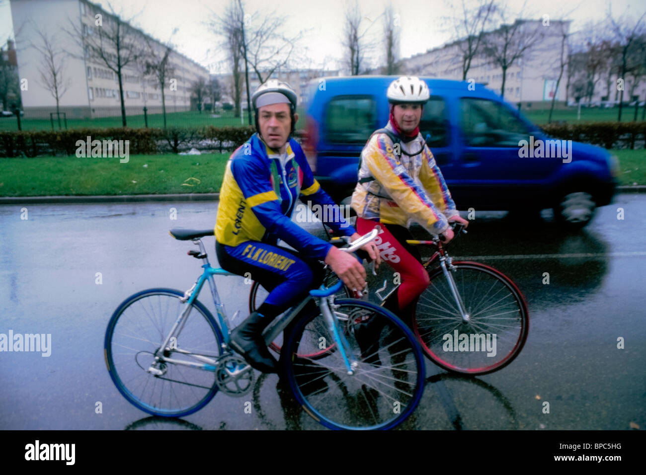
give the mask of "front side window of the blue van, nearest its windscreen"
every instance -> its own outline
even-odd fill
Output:
[[[527,140],[525,124],[497,101],[461,98],[460,124],[471,147],[518,147]]]

